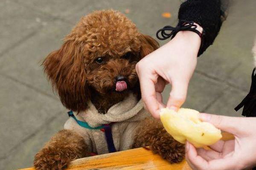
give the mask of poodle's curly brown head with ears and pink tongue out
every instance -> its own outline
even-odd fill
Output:
[[[138,85],[136,63],[159,47],[124,14],[95,11],[81,18],[60,49],[44,60],[44,71],[68,109],[83,111],[90,89],[125,95]]]

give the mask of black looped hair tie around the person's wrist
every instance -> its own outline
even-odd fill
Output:
[[[194,21],[180,20],[176,27],[165,26],[157,31],[157,38],[159,40],[166,40],[171,37],[172,40],[179,31],[193,31],[201,38],[202,33],[196,30],[197,25],[195,25],[194,23]],[[166,33],[166,31],[172,32]],[[161,33],[162,37],[159,37],[159,33]]]

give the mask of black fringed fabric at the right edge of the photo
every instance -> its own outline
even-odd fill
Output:
[[[256,68],[253,69],[252,84],[249,93],[243,99],[243,101],[235,108],[235,110],[238,111],[239,109],[244,107],[242,115],[246,117],[256,117],[256,75],[254,74],[255,70]]]

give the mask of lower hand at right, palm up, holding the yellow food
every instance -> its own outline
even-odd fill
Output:
[[[244,170],[256,165],[256,118],[201,113],[201,120],[232,133],[234,140],[218,141],[212,150],[186,143],[186,160],[193,170]]]

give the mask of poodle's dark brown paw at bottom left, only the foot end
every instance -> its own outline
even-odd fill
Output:
[[[47,147],[35,155],[34,166],[36,170],[64,170],[76,157],[69,150]]]

